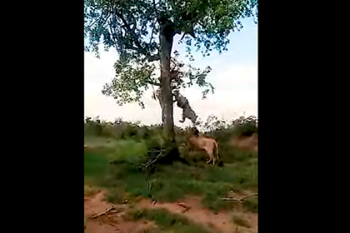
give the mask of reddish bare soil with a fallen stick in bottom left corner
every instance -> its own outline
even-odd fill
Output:
[[[84,196],[84,219],[85,233],[139,233],[144,230],[156,227],[151,221],[138,220],[129,221],[123,218],[125,206],[114,205],[115,208],[96,218],[99,214],[111,207],[111,204],[104,200],[105,191],[99,191],[92,196]]]

